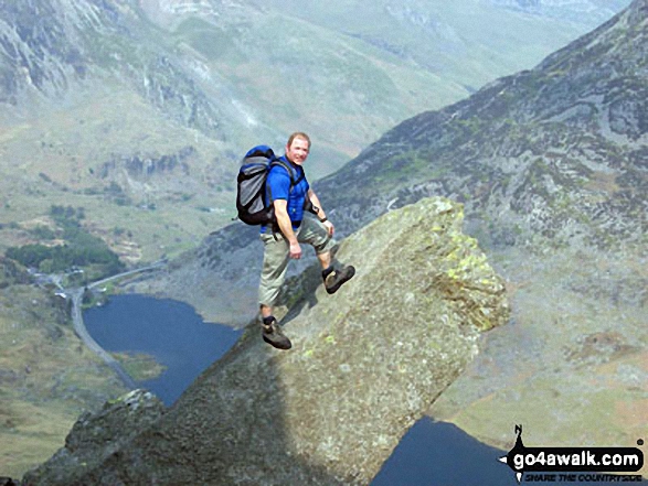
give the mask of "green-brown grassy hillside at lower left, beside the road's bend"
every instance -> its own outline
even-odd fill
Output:
[[[0,290],[0,471],[15,478],[62,447],[84,410],[124,392],[55,299],[31,285]]]

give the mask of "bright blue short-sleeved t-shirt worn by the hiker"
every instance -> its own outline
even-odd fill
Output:
[[[272,201],[287,201],[288,216],[293,222],[293,229],[297,229],[304,217],[304,203],[310,185],[306,180],[306,174],[304,173],[304,168],[301,168],[301,165],[290,163],[286,159],[286,155],[279,159],[293,171],[293,180],[300,181],[293,186],[293,191],[290,191],[290,174],[288,174],[283,165],[273,165],[266,180],[266,203],[269,204],[270,194]],[[261,233],[265,233],[265,230],[266,227],[262,226]]]

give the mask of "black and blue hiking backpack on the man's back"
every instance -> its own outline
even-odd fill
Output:
[[[247,225],[269,225],[275,222],[275,209],[272,202],[265,204],[266,179],[270,168],[281,165],[290,174],[290,191],[304,175],[295,180],[294,171],[278,159],[267,145],[257,145],[248,150],[241,161],[236,177],[236,210],[238,219]]]

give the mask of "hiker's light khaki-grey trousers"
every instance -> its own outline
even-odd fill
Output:
[[[295,235],[300,244],[312,246],[316,255],[330,251],[336,242],[329,236],[326,226],[319,219],[307,214],[304,215],[301,225],[295,230]],[[264,244],[264,257],[261,284],[258,285],[258,303],[272,307],[286,280],[286,271],[290,260],[290,245],[280,231],[273,235],[269,228],[261,235],[261,240]]]

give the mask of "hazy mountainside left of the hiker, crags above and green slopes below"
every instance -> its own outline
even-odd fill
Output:
[[[134,248],[123,255],[134,262],[192,246],[219,225],[204,208],[231,191],[220,184],[232,173],[217,162],[235,118],[223,123],[227,111],[182,72],[136,6],[3,3],[0,19],[2,223],[14,224],[2,248],[23,242],[30,219],[61,204],[84,207],[87,229]]]

